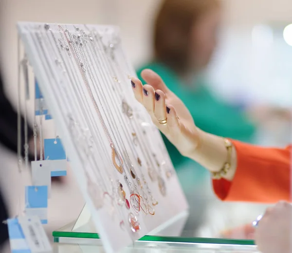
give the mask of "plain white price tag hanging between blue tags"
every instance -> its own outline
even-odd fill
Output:
[[[48,186],[48,198],[51,198],[51,166],[49,161],[32,161],[33,186]]]

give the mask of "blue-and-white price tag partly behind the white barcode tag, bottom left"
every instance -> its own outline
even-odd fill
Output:
[[[18,219],[8,219],[8,234],[12,253],[31,253]]]

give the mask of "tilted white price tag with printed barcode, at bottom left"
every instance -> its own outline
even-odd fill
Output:
[[[19,217],[18,223],[31,253],[52,252],[52,246],[49,242],[48,236],[37,216]]]

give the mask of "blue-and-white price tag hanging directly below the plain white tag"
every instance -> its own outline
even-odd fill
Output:
[[[48,186],[25,186],[25,213],[48,223]]]

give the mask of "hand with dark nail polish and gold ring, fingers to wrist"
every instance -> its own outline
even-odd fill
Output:
[[[164,84],[161,77],[150,69],[142,71],[147,82],[142,85],[132,78],[135,98],[145,106],[154,124],[184,155],[190,156],[199,145],[199,130],[183,102]],[[159,121],[166,120],[166,124]]]

